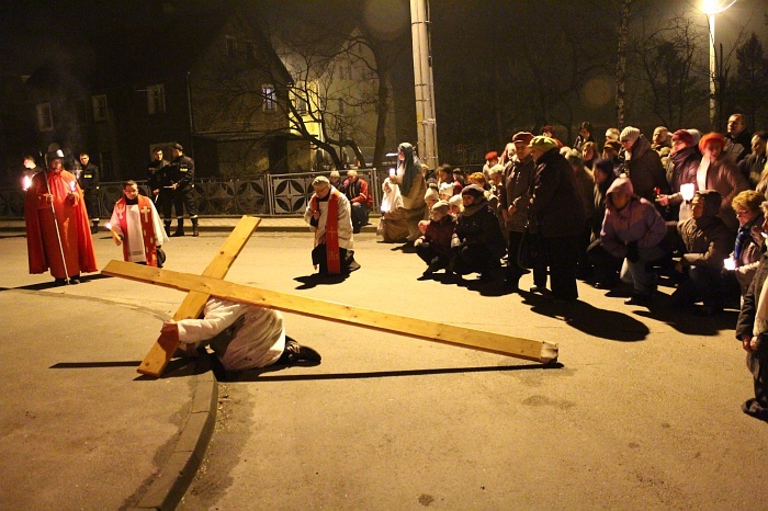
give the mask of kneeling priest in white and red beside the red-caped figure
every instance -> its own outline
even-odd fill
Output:
[[[110,219],[115,243],[123,245],[123,259],[149,266],[162,268],[161,246],[168,236],[155,204],[138,194],[136,181],[123,183],[123,196],[115,203]]]

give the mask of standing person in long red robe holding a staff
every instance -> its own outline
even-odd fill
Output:
[[[56,284],[79,284],[80,273],[99,271],[82,190],[64,170],[60,150],[46,159],[47,171],[32,178],[24,200],[30,273],[50,269]]]

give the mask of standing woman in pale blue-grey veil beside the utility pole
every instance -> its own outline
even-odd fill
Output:
[[[397,147],[397,170],[389,177],[400,188],[403,207],[408,225],[408,241],[414,242],[421,236],[419,222],[425,218],[427,182],[421,173],[421,162],[414,151],[414,146],[403,143]]]

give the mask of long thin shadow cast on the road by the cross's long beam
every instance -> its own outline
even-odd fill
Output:
[[[504,365],[504,366],[485,366],[485,367],[444,367],[433,370],[406,370],[406,371],[377,371],[370,373],[336,373],[336,374],[294,374],[294,375],[273,375],[264,376],[268,373],[283,371],[289,365],[269,366],[260,370],[242,371],[241,373],[229,374],[228,382],[297,382],[297,381],[321,381],[321,379],[364,379],[364,378],[389,378],[399,376],[428,376],[437,374],[466,374],[466,373],[490,373],[490,372],[508,372],[508,371],[529,371],[529,370],[558,370],[563,368],[560,362],[550,364],[532,364],[532,365]]]

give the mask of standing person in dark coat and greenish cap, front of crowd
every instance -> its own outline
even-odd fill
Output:
[[[531,215],[537,220],[539,243],[550,266],[555,298],[576,300],[578,237],[586,218],[581,194],[571,164],[550,137],[534,137],[530,144],[537,163]],[[543,292],[534,286],[531,292]]]

